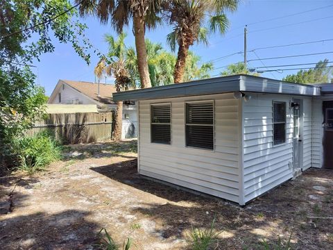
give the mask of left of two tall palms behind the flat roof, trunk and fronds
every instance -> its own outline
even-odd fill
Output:
[[[155,28],[161,22],[159,14],[162,10],[162,0],[76,0],[76,3],[80,3],[80,15],[96,15],[103,24],[108,24],[110,19],[118,33],[123,31],[123,26],[128,26],[130,19],[133,19],[140,81],[142,88],[150,88],[144,34],[146,28]]]

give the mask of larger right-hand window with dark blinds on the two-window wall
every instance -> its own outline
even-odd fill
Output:
[[[214,149],[214,103],[186,103],[186,146]]]

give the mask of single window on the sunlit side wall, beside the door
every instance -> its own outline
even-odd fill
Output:
[[[286,103],[273,101],[273,145],[286,142]]]

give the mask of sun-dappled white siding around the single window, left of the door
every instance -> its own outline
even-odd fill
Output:
[[[244,109],[244,201],[287,181],[293,176],[293,116],[291,97],[250,94]],[[273,146],[273,101],[287,103],[286,142]]]

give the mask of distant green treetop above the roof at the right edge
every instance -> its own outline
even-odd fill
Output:
[[[301,69],[296,74],[289,74],[282,78],[282,81],[291,83],[333,83],[333,67],[327,67],[328,62],[328,59],[320,60],[314,69]]]

